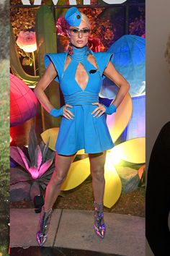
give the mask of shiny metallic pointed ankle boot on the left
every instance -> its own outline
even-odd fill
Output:
[[[52,216],[53,209],[50,208],[48,212],[45,212],[44,206],[42,206],[42,210],[40,213],[40,219],[38,223],[38,229],[36,234],[37,243],[42,246],[45,244],[48,238],[48,228],[50,226],[50,218]]]

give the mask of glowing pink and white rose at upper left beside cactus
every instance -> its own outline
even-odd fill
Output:
[[[20,31],[17,38],[17,45],[19,48],[27,53],[37,50],[35,32],[32,31]]]

